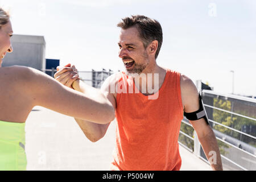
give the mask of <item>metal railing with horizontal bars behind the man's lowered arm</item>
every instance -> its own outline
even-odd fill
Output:
[[[224,169],[256,170],[256,100],[212,90],[203,90],[201,94],[220,147]],[[208,163],[192,125],[186,118],[181,123],[186,125],[181,125],[179,143]],[[249,126],[251,130],[243,131],[243,126]],[[183,130],[186,129],[193,135],[185,133]]]

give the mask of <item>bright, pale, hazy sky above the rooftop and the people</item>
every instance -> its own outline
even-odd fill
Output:
[[[256,96],[255,0],[0,0],[14,34],[40,35],[46,58],[79,71],[125,69],[118,57],[117,23],[141,14],[160,22],[156,63],[216,92]],[[14,50],[15,51],[15,50]]]

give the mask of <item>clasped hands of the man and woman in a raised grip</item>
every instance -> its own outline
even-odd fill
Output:
[[[75,65],[67,64],[65,67],[57,67],[54,78],[61,84],[73,89],[72,84],[76,80],[80,80]]]

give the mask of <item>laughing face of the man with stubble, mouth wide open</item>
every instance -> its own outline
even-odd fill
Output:
[[[149,60],[137,28],[121,29],[118,46],[120,48],[119,57],[125,65],[126,72],[142,73],[149,64]]]

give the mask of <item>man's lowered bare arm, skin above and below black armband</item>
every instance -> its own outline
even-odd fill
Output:
[[[199,110],[199,93],[193,81],[187,76],[181,75],[181,98],[186,113],[192,113]],[[207,125],[204,118],[196,121],[189,121],[196,131],[197,137],[203,147],[205,156],[209,160],[213,170],[223,170],[221,163],[220,150],[218,149],[217,139],[213,130]],[[216,160],[212,160],[215,158]],[[215,162],[215,163],[214,163]]]

